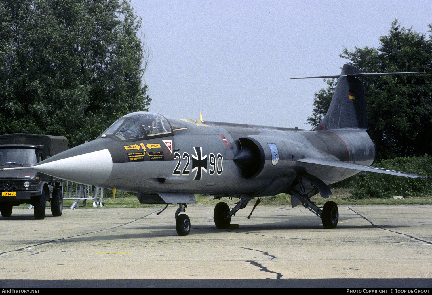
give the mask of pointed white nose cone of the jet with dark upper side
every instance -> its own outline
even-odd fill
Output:
[[[90,141],[54,155],[34,168],[40,173],[86,185],[104,183],[112,171],[111,154],[97,141]]]

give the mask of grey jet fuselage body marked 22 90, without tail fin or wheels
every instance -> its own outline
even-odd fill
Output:
[[[178,120],[168,118],[168,122],[173,121]],[[174,130],[171,136],[127,140],[113,135],[99,137],[44,162],[107,150],[111,171],[104,166],[98,172],[97,166],[79,163],[76,175],[71,177],[67,172],[61,177],[144,194],[271,196],[286,191],[299,173],[316,176],[328,185],[359,172],[297,162],[299,159],[324,157],[370,165],[375,157],[374,144],[362,129],[310,131],[199,120],[182,123],[186,128]],[[264,151],[263,163],[252,172],[232,160],[241,150],[243,139],[254,140]],[[278,151],[278,160],[273,163],[269,144],[275,144]]]

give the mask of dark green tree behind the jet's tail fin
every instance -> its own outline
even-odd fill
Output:
[[[429,27],[432,32],[431,25]],[[368,133],[377,146],[378,158],[410,157],[431,151],[431,37],[428,39],[411,28],[401,28],[395,20],[389,34],[379,38],[378,49],[344,48],[340,55],[362,72],[426,72],[362,78],[370,127]],[[333,84],[315,93],[315,109],[309,122],[321,121],[330,105],[332,91]]]

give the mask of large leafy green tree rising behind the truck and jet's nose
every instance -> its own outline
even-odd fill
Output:
[[[75,146],[148,110],[140,28],[127,1],[1,0],[0,132]]]

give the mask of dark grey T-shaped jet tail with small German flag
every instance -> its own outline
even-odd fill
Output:
[[[314,131],[342,128],[368,129],[363,83],[356,77],[420,73],[422,72],[362,73],[362,71],[355,66],[346,63],[343,65],[340,75],[305,77],[339,78],[333,98],[331,99],[330,107],[321,124],[315,127]]]

